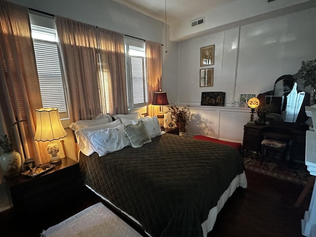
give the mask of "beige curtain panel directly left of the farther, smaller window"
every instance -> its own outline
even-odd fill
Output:
[[[98,38],[103,113],[127,114],[124,35],[98,28]]]

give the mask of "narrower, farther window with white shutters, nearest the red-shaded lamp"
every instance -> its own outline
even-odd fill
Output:
[[[145,42],[125,38],[127,105],[129,110],[147,105]]]

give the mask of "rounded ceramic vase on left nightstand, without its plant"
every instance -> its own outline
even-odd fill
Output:
[[[0,156],[0,166],[5,176],[18,176],[21,172],[21,164],[21,155],[16,151],[4,153]]]

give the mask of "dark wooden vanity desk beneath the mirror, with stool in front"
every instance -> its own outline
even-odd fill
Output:
[[[245,124],[243,129],[242,154],[244,154],[245,151],[254,151],[258,156],[261,153],[261,142],[265,135],[270,132],[278,136],[278,139],[284,136],[290,138],[290,140],[292,140],[290,158],[304,162],[306,126],[301,127],[295,123],[282,122],[269,126]]]

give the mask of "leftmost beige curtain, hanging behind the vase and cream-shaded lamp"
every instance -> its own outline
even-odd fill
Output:
[[[39,146],[34,141],[35,110],[42,104],[30,32],[28,9],[0,0],[1,125],[7,134],[16,122],[13,133],[17,151],[39,164]]]

